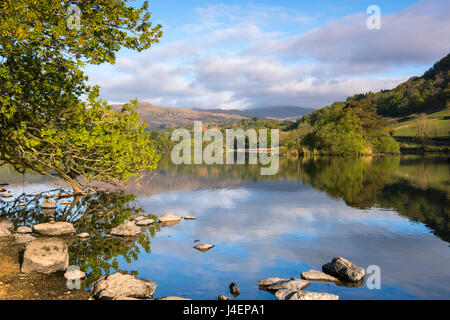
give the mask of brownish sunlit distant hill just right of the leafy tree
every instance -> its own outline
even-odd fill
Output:
[[[120,105],[113,105],[112,107],[117,110]],[[137,112],[141,120],[147,122],[148,128],[151,129],[170,129],[193,124],[194,121],[221,123],[236,122],[246,118],[235,114],[196,111],[185,108],[164,108],[148,102],[139,103]]]

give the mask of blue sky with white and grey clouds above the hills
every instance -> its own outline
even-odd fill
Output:
[[[371,5],[381,29],[367,27]],[[86,68],[110,103],[321,108],[392,89],[450,53],[450,0],[151,0],[149,9],[160,43]]]

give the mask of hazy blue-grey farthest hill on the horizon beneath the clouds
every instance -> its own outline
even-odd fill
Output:
[[[249,110],[221,110],[221,109],[194,109],[196,111],[206,111],[211,113],[225,113],[229,115],[239,115],[247,118],[297,120],[298,118],[310,114],[314,109],[302,107],[268,107],[255,108]]]

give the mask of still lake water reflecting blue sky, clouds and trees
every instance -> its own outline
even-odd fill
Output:
[[[55,189],[51,179],[0,168],[14,195]],[[100,275],[125,270],[158,284],[155,297],[275,299],[258,289],[268,277],[300,277],[335,256],[381,268],[381,289],[312,282],[308,291],[341,299],[450,299],[450,168],[447,158],[280,159],[276,176],[257,166],[174,166],[163,158],[155,175],[124,186],[127,193],[75,199],[42,213],[42,199],[0,201],[16,226],[54,216],[89,232],[75,240],[71,264]],[[134,196],[136,195],[136,196]],[[25,200],[24,200],[25,199]],[[137,239],[105,235],[142,213],[195,216],[175,226],[151,226]],[[194,241],[214,244],[208,252]]]

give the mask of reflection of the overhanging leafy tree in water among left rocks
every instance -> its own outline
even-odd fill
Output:
[[[160,230],[158,225],[143,228],[136,238],[121,239],[108,236],[111,229],[143,213],[136,206],[136,196],[125,192],[97,192],[86,196],[64,195],[53,190],[40,195],[21,195],[14,200],[0,200],[0,216],[12,221],[16,227],[32,226],[55,221],[71,222],[76,231],[87,232],[90,238],[65,237],[70,244],[70,264],[87,273],[83,289],[101,275],[119,270],[119,259],[127,263],[136,261],[141,251],[150,252],[151,238]],[[56,196],[55,196],[56,195]],[[57,203],[56,209],[42,209],[44,199]],[[62,201],[71,202],[61,205]],[[24,204],[20,207],[19,203]],[[156,217],[153,217],[156,218]]]

